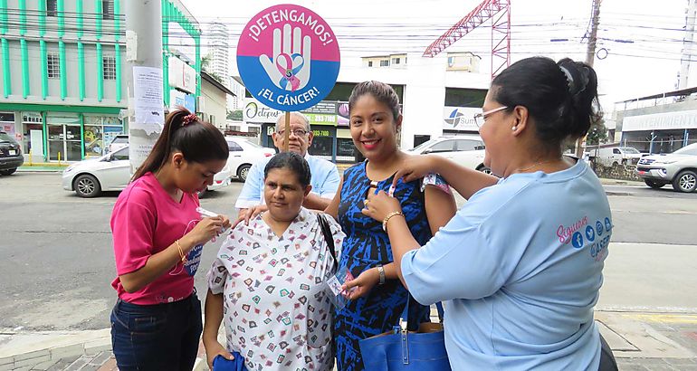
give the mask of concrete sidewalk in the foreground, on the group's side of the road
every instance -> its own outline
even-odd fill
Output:
[[[697,370],[697,313],[597,310],[621,370]],[[5,331],[0,370],[115,370],[110,329]],[[203,345],[195,370],[207,370]]]

